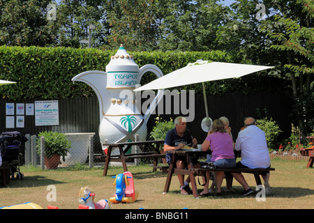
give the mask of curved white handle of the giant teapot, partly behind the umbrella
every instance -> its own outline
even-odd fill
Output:
[[[140,79],[142,79],[144,73],[146,72],[153,72],[157,78],[163,77],[163,72],[155,65],[153,64],[147,64],[142,66],[140,68]],[[147,112],[144,114],[144,121],[147,123],[149,120],[149,117],[151,116],[151,112],[154,111],[158,103],[160,102],[161,99],[163,99],[163,94],[165,93],[165,90],[158,90],[156,97],[154,100],[152,100],[151,105],[149,106],[149,109],[147,109]],[[157,100],[156,100],[157,98]]]

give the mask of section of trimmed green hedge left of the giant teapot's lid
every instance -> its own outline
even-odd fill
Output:
[[[2,98],[73,98],[94,91],[71,79],[87,70],[105,70],[112,52],[64,47],[0,47],[0,79],[17,82],[1,86]]]

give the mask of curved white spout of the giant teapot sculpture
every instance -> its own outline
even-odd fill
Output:
[[[90,70],[87,72],[82,72],[76,75],[72,79],[74,82],[84,82],[89,85],[96,93],[99,103],[99,115],[100,122],[103,120],[103,116],[107,113],[111,98],[110,92],[106,89],[107,86],[107,72],[100,70]]]

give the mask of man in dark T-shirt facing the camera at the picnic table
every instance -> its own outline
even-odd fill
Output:
[[[175,128],[172,130],[169,130],[167,132],[167,135],[165,137],[165,144],[163,147],[163,150],[167,153],[167,151],[174,151],[179,150],[180,148],[184,148],[184,146],[190,146],[193,148],[197,148],[197,140],[190,136],[190,131],[186,129],[186,118],[184,117],[177,117],[174,119],[174,125]],[[172,159],[172,154],[167,153],[166,154],[167,163],[170,164]],[[196,163],[197,160],[193,160],[193,163]],[[176,162],[177,169],[185,169],[186,168],[186,159],[185,157],[182,157],[182,159],[177,160]],[[196,168],[196,167],[195,167]],[[190,177],[186,178],[186,181],[184,181],[184,175],[177,174],[179,178],[179,183],[181,187],[181,194],[192,194],[192,191],[190,190],[190,187],[188,186],[190,183]]]

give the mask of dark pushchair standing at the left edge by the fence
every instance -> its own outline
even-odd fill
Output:
[[[2,132],[0,135],[0,152],[2,166],[10,167],[10,177],[22,180],[24,174],[20,172],[20,146],[28,139],[20,132]]]

